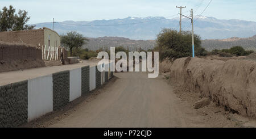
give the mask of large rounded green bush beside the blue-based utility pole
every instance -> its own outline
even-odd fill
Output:
[[[201,47],[201,38],[194,35],[195,54],[196,56],[205,56],[207,50]],[[192,56],[192,33],[170,28],[164,28],[156,39],[155,51],[159,51],[159,59],[175,60],[176,58]]]

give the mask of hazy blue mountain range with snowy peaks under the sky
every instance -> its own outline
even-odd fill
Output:
[[[38,23],[37,28],[52,28],[52,22]],[[160,16],[147,18],[128,17],[123,19],[56,22],[54,30],[60,35],[77,31],[86,37],[118,36],[133,40],[154,40],[163,28],[179,30],[179,18],[167,19]],[[182,19],[183,30],[191,30],[191,20]],[[256,34],[256,22],[230,19],[222,20],[207,16],[196,16],[195,33],[201,39],[226,39],[229,37],[250,37]]]

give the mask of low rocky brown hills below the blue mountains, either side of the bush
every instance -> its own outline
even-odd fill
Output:
[[[97,50],[100,48],[109,49],[110,47],[129,48],[129,50],[137,50],[142,48],[144,50],[152,49],[155,47],[155,40],[131,40],[125,37],[97,37],[88,38],[88,44],[83,48],[90,50]],[[231,37],[229,39],[222,40],[202,40],[202,47],[207,50],[213,49],[229,49],[234,46],[242,46],[246,50],[256,50],[256,35],[253,37]]]

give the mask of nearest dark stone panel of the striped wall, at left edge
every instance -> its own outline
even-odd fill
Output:
[[[27,122],[27,81],[0,86],[0,127]]]

